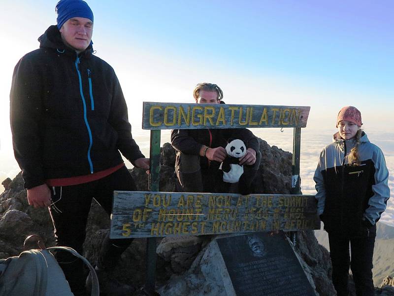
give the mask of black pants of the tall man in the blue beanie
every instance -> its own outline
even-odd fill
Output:
[[[110,215],[114,190],[135,191],[134,181],[124,166],[111,175],[97,181],[51,187],[52,202],[50,214],[55,227],[57,246],[75,249],[83,255],[83,243],[86,236],[86,222],[94,198],[105,212]],[[123,251],[129,247],[132,239],[111,240],[109,233],[104,238],[99,255],[102,268],[116,265]],[[68,252],[57,252],[56,258],[62,267],[73,293],[81,293],[85,287],[86,275],[83,262]]]

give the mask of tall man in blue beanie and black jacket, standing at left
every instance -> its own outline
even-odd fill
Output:
[[[136,167],[149,169],[149,159],[131,136],[114,70],[94,55],[92,10],[82,0],[61,0],[56,12],[57,25],[38,38],[40,48],[15,66],[13,148],[29,204],[49,207],[56,245],[83,254],[92,198],[109,215],[114,190],[136,190],[119,151]],[[104,238],[96,268],[102,292],[133,291],[107,276],[130,243]],[[57,259],[74,295],[84,295],[83,262],[68,252]]]

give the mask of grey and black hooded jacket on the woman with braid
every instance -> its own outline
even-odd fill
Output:
[[[318,215],[327,231],[357,233],[362,225],[374,225],[390,198],[382,150],[362,132],[358,148],[361,164],[349,165],[345,156],[356,143],[355,139],[341,139],[337,133],[333,143],[320,153],[313,180]]]

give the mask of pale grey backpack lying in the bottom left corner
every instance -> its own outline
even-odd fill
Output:
[[[68,247],[29,250],[0,260],[0,296],[73,296],[62,268],[49,250],[64,250],[82,259],[93,275],[91,296],[99,296],[99,281],[89,261]]]

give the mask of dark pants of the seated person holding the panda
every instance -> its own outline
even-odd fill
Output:
[[[244,165],[244,173],[240,186],[237,191],[231,193],[249,194],[249,188],[252,181],[256,178],[259,170],[262,154],[256,153],[256,162],[253,165]],[[175,172],[183,192],[230,192],[231,184],[223,181],[223,172],[219,170],[219,165],[214,162],[209,168],[200,168],[200,156],[176,152]],[[239,190],[240,189],[240,190]]]

